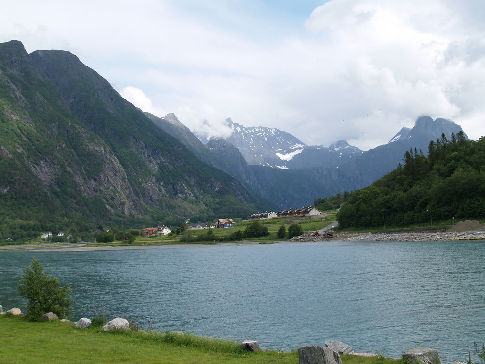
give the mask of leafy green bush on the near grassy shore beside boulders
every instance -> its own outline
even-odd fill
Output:
[[[37,258],[22,269],[23,277],[18,281],[20,296],[27,298],[27,319],[40,321],[42,315],[52,311],[59,318],[68,318],[72,312],[73,301],[69,299],[72,290],[68,284],[61,287],[57,278],[49,276],[50,269],[44,267]]]

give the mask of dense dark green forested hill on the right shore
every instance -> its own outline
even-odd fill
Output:
[[[462,132],[409,150],[403,164],[372,185],[344,194],[339,226],[406,226],[485,215],[485,137]],[[342,196],[343,197],[343,196]]]

